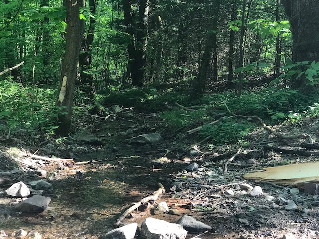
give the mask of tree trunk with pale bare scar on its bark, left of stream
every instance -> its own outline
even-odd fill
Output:
[[[66,47],[62,62],[60,84],[56,106],[61,107],[58,116],[58,126],[56,134],[59,136],[68,136],[71,129],[72,105],[75,81],[77,78],[77,64],[80,52],[80,3],[78,0],[66,1],[67,29],[66,29]]]

